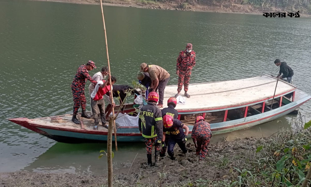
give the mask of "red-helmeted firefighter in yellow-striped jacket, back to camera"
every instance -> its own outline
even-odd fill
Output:
[[[140,117],[138,119],[138,127],[142,136],[145,138],[147,150],[147,163],[152,165],[152,146],[155,146],[155,166],[159,165],[160,160],[160,144],[163,134],[163,124],[161,110],[156,106],[159,100],[159,94],[150,92],[148,95],[148,104],[140,109]],[[143,119],[141,119],[141,115]]]

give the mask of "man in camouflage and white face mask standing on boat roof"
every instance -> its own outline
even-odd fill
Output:
[[[192,44],[188,43],[186,49],[180,51],[177,64],[176,64],[176,74],[178,77],[178,88],[176,97],[180,95],[180,91],[183,88],[185,90],[185,96],[190,97],[188,92],[188,85],[191,77],[191,71],[193,66],[195,66],[195,52],[192,50]]]

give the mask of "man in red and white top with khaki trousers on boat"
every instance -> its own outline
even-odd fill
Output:
[[[95,122],[94,130],[98,130],[99,114],[102,126],[108,128],[106,125],[104,95],[110,91],[110,84],[109,84],[110,78],[111,78],[111,85],[113,85],[117,79],[109,75],[108,80],[98,81],[93,92],[91,93],[91,108]],[[113,104],[112,107],[115,107],[115,104]]]

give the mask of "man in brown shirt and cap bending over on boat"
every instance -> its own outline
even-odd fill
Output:
[[[156,91],[156,89],[159,90],[159,104],[157,106],[162,108],[164,89],[166,84],[169,82],[170,74],[158,65],[147,65],[146,63],[142,63],[140,65],[140,71],[149,73],[151,78],[150,88],[153,92]]]

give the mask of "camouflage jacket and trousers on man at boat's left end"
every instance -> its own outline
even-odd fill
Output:
[[[91,81],[91,83],[96,84],[97,82],[92,79],[92,77],[89,75],[88,70],[86,69],[86,65],[80,65],[77,74],[75,75],[75,78],[72,81],[71,84],[71,90],[72,90],[72,96],[73,96],[73,115],[77,115],[78,110],[81,108],[82,110],[85,110],[86,108],[86,98],[84,95],[84,87],[86,80]]]

